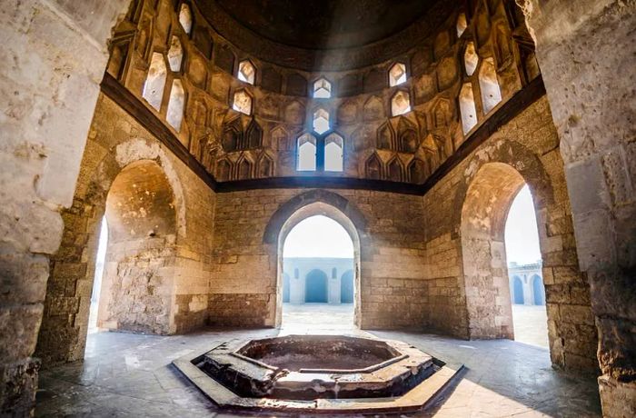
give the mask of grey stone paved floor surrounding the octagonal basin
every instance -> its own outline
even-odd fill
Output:
[[[412,343],[444,361],[463,363],[462,378],[431,410],[414,416],[600,416],[595,379],[552,370],[547,349],[509,340],[366,333],[354,329],[350,306],[322,304],[286,305],[281,330],[208,329],[175,336],[93,333],[84,363],[41,373],[36,416],[236,416],[218,412],[170,362],[231,338],[278,333],[373,334]]]

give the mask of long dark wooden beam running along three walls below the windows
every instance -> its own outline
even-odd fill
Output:
[[[217,193],[232,193],[257,189],[325,188],[356,189],[390,192],[398,194],[424,195],[452,169],[460,164],[478,146],[497,132],[504,124],[512,121],[524,109],[545,95],[542,76],[536,77],[522,90],[518,91],[493,114],[489,115],[460,147],[440,165],[423,184],[398,183],[387,180],[372,180],[353,177],[335,177],[329,175],[297,175],[290,177],[267,177],[247,180],[217,182],[214,175],[207,172],[204,165],[190,154],[173,131],[164,124],[154,112],[137,96],[128,91],[112,75],[105,74],[101,84],[102,92],[119,104],[128,114],[168,147],[174,155],[184,162],[194,174]]]

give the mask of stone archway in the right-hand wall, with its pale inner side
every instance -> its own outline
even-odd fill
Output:
[[[499,140],[466,164],[455,194],[469,338],[511,338],[512,309],[503,230],[512,199],[528,184],[539,229],[552,364],[595,369],[589,284],[577,263],[561,162]],[[504,297],[505,296],[505,297]],[[490,302],[485,302],[486,300]]]

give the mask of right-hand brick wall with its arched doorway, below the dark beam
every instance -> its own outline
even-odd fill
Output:
[[[493,167],[497,174],[487,175]],[[486,186],[481,197],[462,211],[480,182]],[[589,285],[578,267],[559,140],[545,97],[492,134],[424,195],[427,269],[434,284],[429,297],[436,300],[424,315],[426,325],[464,338],[512,335],[502,228],[523,182],[530,186],[537,213],[552,363],[594,371]],[[467,226],[474,219],[491,234],[490,248],[477,253],[481,258],[474,258],[478,247],[466,239],[475,237]],[[493,280],[495,273],[502,283]]]

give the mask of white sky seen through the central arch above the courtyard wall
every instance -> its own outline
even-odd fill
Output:
[[[319,214],[293,227],[285,239],[283,257],[353,258],[353,243],[341,224]]]

